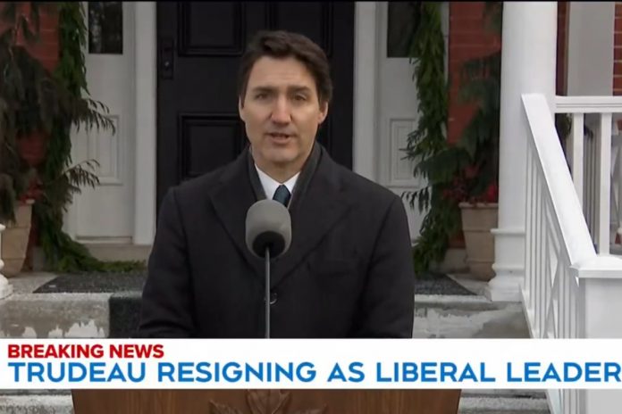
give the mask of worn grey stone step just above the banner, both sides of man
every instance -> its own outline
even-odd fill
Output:
[[[0,337],[130,337],[144,279],[141,273],[14,277],[14,294],[0,301]],[[477,294],[480,285],[453,280],[418,283],[414,337],[529,337],[520,303],[490,302]]]

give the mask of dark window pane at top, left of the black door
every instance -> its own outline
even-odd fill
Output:
[[[88,3],[88,53],[123,53],[122,2]]]

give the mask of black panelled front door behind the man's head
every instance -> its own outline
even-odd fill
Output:
[[[318,140],[352,167],[353,3],[157,3],[157,205],[170,186],[214,170],[246,145],[236,80],[260,29],[297,31],[324,47],[334,86]]]

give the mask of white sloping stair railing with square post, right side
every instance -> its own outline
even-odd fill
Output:
[[[528,137],[521,296],[531,335],[622,337],[622,259],[596,253],[546,98],[526,94],[523,105]],[[622,405],[619,392],[547,394],[553,414],[597,414]]]

